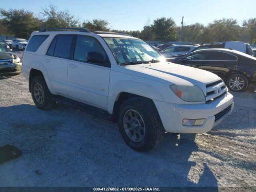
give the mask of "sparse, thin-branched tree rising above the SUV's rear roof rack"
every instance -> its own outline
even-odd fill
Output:
[[[44,19],[44,28],[70,28],[78,25],[78,18],[72,15],[69,10],[58,10],[57,6],[49,4],[40,12]]]

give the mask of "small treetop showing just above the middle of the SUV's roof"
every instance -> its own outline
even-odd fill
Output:
[[[84,21],[82,26],[88,30],[99,30],[99,31],[109,31],[108,21],[102,19],[94,19],[92,21]]]

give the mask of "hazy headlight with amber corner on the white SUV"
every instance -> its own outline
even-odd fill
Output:
[[[198,86],[193,85],[170,85],[173,92],[187,102],[205,101],[204,92]]]

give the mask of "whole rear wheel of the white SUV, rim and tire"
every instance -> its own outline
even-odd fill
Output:
[[[34,104],[42,109],[49,110],[54,107],[55,101],[52,100],[47,84],[43,76],[36,76],[31,83],[31,94]]]

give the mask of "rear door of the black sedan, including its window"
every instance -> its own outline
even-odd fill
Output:
[[[203,69],[224,78],[231,68],[236,65],[237,57],[220,51],[210,51],[203,64]]]

